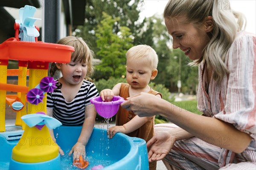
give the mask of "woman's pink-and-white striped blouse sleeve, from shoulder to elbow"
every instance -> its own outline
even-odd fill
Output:
[[[256,139],[256,37],[242,32],[228,53],[226,107],[215,118]]]

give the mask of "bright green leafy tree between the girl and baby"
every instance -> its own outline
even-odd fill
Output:
[[[125,53],[132,47],[131,32],[128,27],[120,27],[118,34],[113,32],[113,25],[120,18],[112,18],[102,12],[102,21],[96,28],[96,45],[99,51],[96,53],[101,63],[96,65],[96,73],[101,73],[96,79],[109,77],[121,77],[125,73]]]

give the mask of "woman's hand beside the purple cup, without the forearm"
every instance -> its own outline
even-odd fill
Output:
[[[162,99],[153,94],[140,93],[128,97],[127,101],[123,102],[121,106],[128,111],[134,111],[140,117],[154,116],[157,114],[158,109],[160,109],[155,104],[160,100]]]

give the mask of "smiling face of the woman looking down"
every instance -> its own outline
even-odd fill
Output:
[[[191,60],[200,59],[209,42],[207,31],[203,24],[195,28],[193,23],[185,21],[185,17],[165,19],[166,28],[173,37],[173,48],[180,48]]]

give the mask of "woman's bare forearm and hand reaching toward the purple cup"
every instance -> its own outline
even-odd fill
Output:
[[[138,116],[152,116],[154,114],[164,116],[175,125],[205,142],[236,153],[241,153],[252,139],[247,133],[237,130],[231,124],[215,118],[199,116],[146,93],[128,98],[122,107],[134,111]]]

